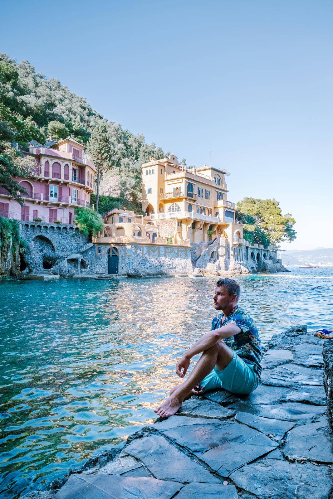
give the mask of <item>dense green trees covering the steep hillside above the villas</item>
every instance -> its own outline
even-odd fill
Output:
[[[0,102],[12,115],[18,113],[20,119],[30,120],[26,126],[30,134],[22,135],[19,142],[36,140],[43,144],[45,134],[56,140],[70,135],[78,142],[87,144],[92,130],[101,120],[104,121],[110,143],[110,157],[113,168],[103,173],[103,184],[110,183],[113,177],[117,179],[118,193],[131,201],[141,199],[141,163],[151,156],[159,159],[165,154],[155,146],[147,144],[142,134],[134,135],[124,130],[118,123],[107,121],[95,111],[86,101],[55,78],[47,79],[42,73],[37,73],[28,61],[17,63],[7,54],[0,54]],[[2,119],[1,119],[2,121]],[[0,139],[2,137],[0,124]],[[9,127],[17,132],[14,123]],[[11,138],[6,141],[10,143]],[[17,142],[17,140],[16,140]],[[12,151],[14,156],[18,154]],[[4,162],[5,163],[5,162]],[[2,170],[5,166],[2,163]],[[12,170],[7,177],[11,178]]]

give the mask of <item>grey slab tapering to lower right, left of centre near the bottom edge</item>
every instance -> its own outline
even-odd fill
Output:
[[[194,459],[158,434],[133,440],[122,450],[120,456],[126,454],[140,460],[158,480],[212,484],[220,482]]]

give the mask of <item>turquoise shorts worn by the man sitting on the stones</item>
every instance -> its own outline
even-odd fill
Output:
[[[248,395],[260,383],[253,364],[247,364],[234,352],[231,362],[219,371],[215,366],[213,371],[200,383],[203,392],[208,390],[228,390],[232,393]]]

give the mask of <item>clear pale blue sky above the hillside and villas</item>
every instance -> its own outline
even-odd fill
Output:
[[[1,1],[0,50],[333,247],[333,2]]]

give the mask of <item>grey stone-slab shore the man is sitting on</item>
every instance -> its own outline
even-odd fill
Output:
[[[176,416],[131,435],[122,449],[103,452],[53,489],[24,498],[332,497],[324,343],[307,326],[273,336],[262,383],[251,395],[193,397]]]

